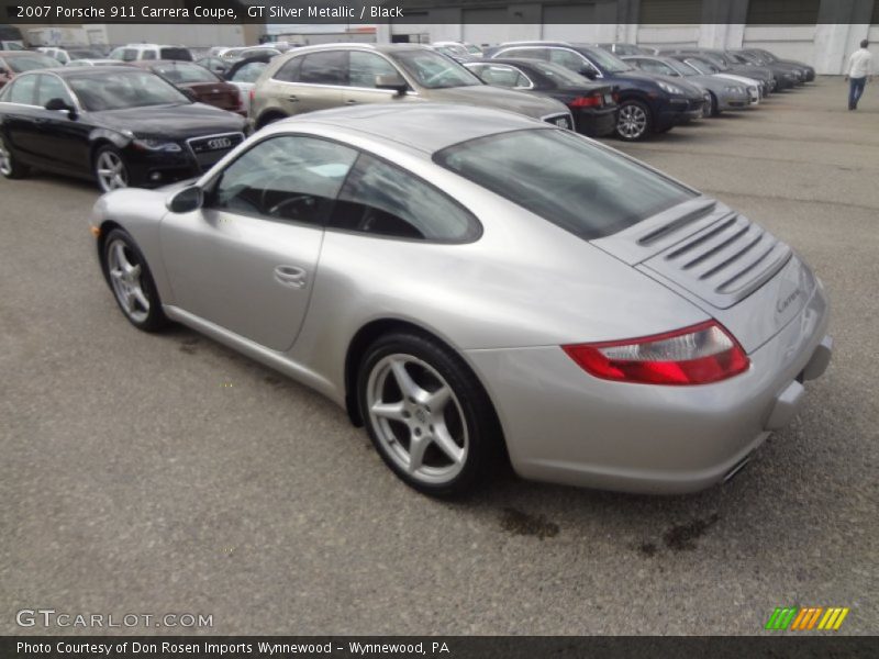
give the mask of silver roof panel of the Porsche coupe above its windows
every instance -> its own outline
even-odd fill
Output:
[[[309,112],[264,129],[285,132],[300,123],[398,142],[426,154],[497,133],[553,126],[515,112],[455,103],[376,103]]]

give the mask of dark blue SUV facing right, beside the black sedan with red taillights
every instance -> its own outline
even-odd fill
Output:
[[[616,88],[620,111],[616,134],[626,141],[643,139],[702,114],[704,97],[691,85],[672,78],[648,76],[635,70],[607,51],[565,42],[509,43],[486,53],[486,57],[518,57],[553,62]]]

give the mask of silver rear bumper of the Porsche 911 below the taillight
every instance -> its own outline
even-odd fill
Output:
[[[494,401],[520,476],[679,493],[725,480],[793,417],[800,380],[819,377],[830,361],[827,324],[819,286],[801,313],[749,355],[748,371],[699,387],[599,380],[555,346],[467,356]]]

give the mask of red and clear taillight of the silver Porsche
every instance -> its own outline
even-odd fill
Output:
[[[706,384],[732,378],[750,364],[738,342],[716,321],[561,349],[597,378],[642,384]]]

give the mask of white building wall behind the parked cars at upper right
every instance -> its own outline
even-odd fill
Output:
[[[418,8],[425,15],[423,24],[379,25],[378,41],[411,35],[411,41],[467,41],[479,45],[559,40],[615,41],[654,47],[763,47],[831,75],[844,71],[848,55],[857,49],[860,40],[879,43],[879,25],[869,24],[872,16],[879,15],[875,10],[879,0],[820,0],[813,25],[748,25],[750,0],[698,0],[701,11],[696,13],[703,21],[699,24],[639,24],[641,2],[425,1]],[[656,14],[655,7],[652,12]]]

